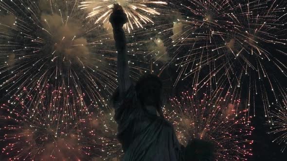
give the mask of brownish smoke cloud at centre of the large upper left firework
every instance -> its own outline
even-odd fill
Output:
[[[47,39],[50,40],[48,43],[54,46],[53,52],[57,56],[75,61],[81,61],[82,57],[89,56],[87,39],[77,37],[82,33],[80,24],[72,19],[68,23],[63,22],[59,15],[42,14],[41,20],[44,30],[47,31]]]

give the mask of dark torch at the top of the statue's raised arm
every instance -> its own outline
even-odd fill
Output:
[[[122,28],[127,22],[127,16],[124,13],[123,7],[119,4],[114,4],[113,12],[109,17],[109,22],[114,29]]]

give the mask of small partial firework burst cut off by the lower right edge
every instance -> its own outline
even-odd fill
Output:
[[[276,136],[273,142],[282,145],[282,153],[287,147],[287,100],[278,103],[276,109],[271,111],[269,134]]]

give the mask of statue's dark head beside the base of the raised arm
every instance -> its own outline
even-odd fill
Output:
[[[136,84],[137,97],[143,106],[155,107],[156,111],[162,115],[161,111],[161,91],[162,82],[158,76],[153,74],[144,75]]]

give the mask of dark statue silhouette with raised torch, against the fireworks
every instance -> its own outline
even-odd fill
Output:
[[[189,148],[179,144],[172,124],[164,119],[161,110],[161,80],[148,74],[135,85],[131,81],[123,30],[127,16],[120,5],[114,4],[109,21],[118,52],[119,87],[112,100],[118,124],[117,138],[125,153],[123,161],[210,161],[194,157],[198,151],[194,142]],[[194,153],[184,155],[186,149]]]

